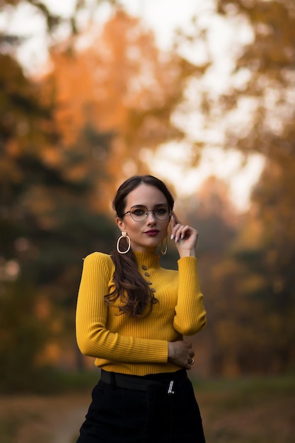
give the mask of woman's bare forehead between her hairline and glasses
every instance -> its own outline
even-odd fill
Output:
[[[141,185],[137,186],[132,192],[129,192],[126,198],[126,206],[144,205],[146,207],[154,207],[155,205],[166,204],[167,199],[161,190],[155,186]]]

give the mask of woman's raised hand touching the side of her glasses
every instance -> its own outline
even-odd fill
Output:
[[[197,230],[192,228],[192,226],[181,224],[175,212],[172,212],[170,229],[171,239],[175,241],[180,258],[195,256],[195,248],[199,236]]]

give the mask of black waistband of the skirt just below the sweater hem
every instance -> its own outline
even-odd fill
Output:
[[[187,379],[185,369],[164,374],[149,374],[147,376],[133,376],[101,370],[100,379],[105,383],[118,388],[133,389],[136,391],[149,391],[153,388],[166,389],[168,394],[175,393],[175,383]]]

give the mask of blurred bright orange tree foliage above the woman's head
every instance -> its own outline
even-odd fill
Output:
[[[100,132],[115,132],[116,161],[129,158],[139,166],[141,147],[155,149],[181,137],[170,117],[182,100],[188,71],[180,57],[159,52],[139,19],[117,11],[103,29],[81,36],[73,52],[52,52],[47,80],[64,146],[74,144],[90,123]]]

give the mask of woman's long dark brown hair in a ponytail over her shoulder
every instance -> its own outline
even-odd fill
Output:
[[[154,186],[160,190],[165,195],[170,209],[173,209],[174,200],[165,183],[154,176],[133,176],[120,185],[112,202],[112,207],[115,209],[117,217],[120,219],[124,217],[127,195],[142,183]],[[120,247],[127,249],[127,240],[125,238],[122,238]],[[157,300],[137,268],[137,260],[132,249],[126,254],[120,254],[115,249],[111,254],[111,258],[115,263],[113,275],[115,289],[110,294],[105,295],[105,301],[111,304],[112,301],[120,299],[122,302],[119,308],[120,312],[127,313],[130,317],[143,316],[146,306],[148,306],[146,315],[149,315],[151,309],[153,309],[153,304]]]

